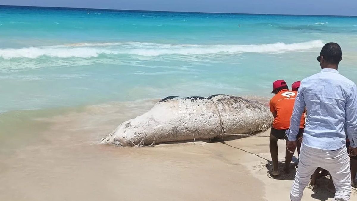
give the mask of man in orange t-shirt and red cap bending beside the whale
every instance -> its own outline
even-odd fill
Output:
[[[273,161],[272,176],[280,175],[278,171],[278,140],[286,139],[285,131],[290,127],[290,118],[293,111],[296,92],[290,91],[284,80],[276,80],[273,83],[273,91],[275,96],[270,100],[270,111],[274,116],[273,126],[270,132],[270,154]],[[302,115],[300,130],[297,135],[297,139],[300,138],[304,131],[305,117]],[[299,146],[300,148],[300,146]],[[298,148],[298,152],[300,152]],[[290,162],[293,153],[290,153],[287,149],[285,151],[285,173],[289,173]]]

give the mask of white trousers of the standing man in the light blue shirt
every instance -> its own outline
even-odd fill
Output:
[[[352,191],[351,170],[350,157],[348,157],[346,147],[336,151],[327,151],[311,148],[303,143],[290,199],[292,201],[301,200],[303,191],[317,167],[322,167],[330,172],[336,188],[335,200],[350,200]]]

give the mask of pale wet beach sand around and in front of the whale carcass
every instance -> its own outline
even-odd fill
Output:
[[[0,200],[289,200],[295,168],[290,175],[268,175],[266,137],[140,148],[98,143],[154,103],[85,107],[17,122],[13,137],[2,142],[11,146],[0,149]],[[282,162],[283,141],[279,148]],[[332,196],[321,185],[316,192],[306,188],[303,200]]]

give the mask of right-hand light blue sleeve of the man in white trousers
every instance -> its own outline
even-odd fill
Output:
[[[352,148],[357,148],[357,87],[354,84],[351,87],[350,94],[346,100],[346,131],[350,145]]]

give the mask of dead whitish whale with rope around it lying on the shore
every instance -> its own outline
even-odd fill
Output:
[[[211,139],[223,133],[266,131],[273,122],[269,109],[232,95],[160,100],[148,112],[120,124],[101,140],[119,146]]]

